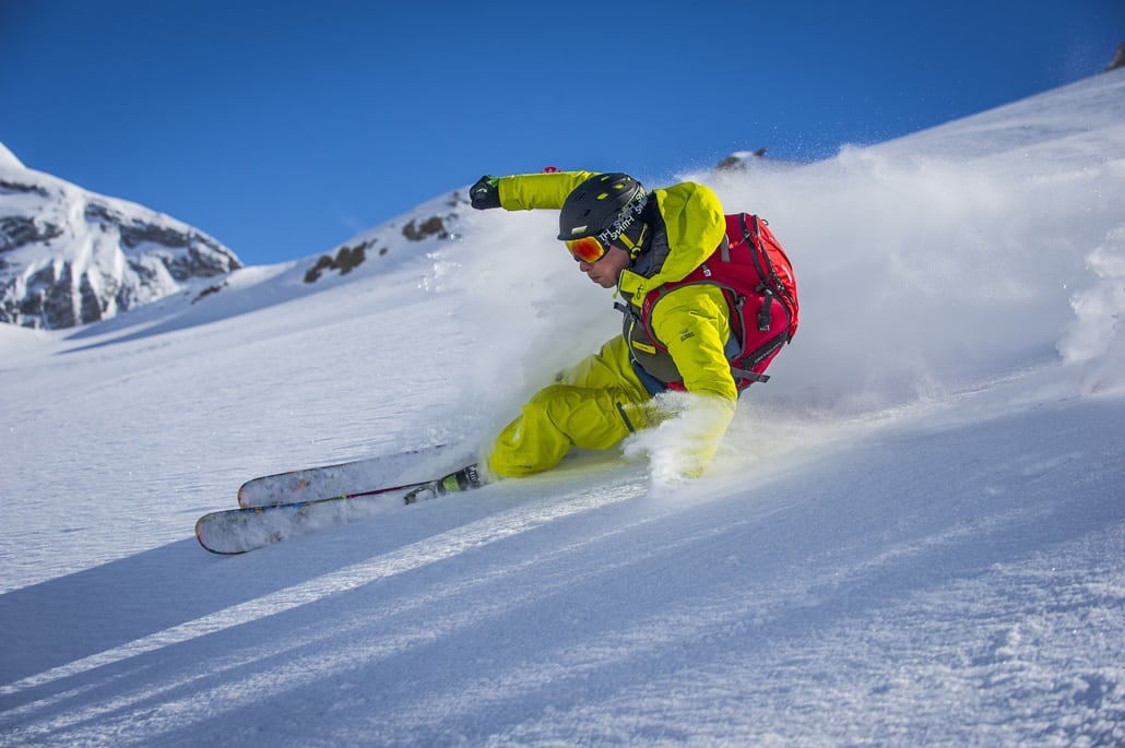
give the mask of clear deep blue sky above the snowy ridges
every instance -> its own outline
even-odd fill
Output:
[[[263,264],[486,172],[831,156],[1122,42],[1123,0],[0,0],[0,142]]]

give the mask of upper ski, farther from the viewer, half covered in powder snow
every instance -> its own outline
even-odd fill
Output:
[[[446,454],[438,444],[407,452],[290,470],[253,478],[238,488],[238,506],[251,508],[277,504],[299,504],[321,498],[367,496],[354,493],[357,486],[413,487],[426,479],[436,466],[430,458]],[[442,465],[444,465],[444,460]]]

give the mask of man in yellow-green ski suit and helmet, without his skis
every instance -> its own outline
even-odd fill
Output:
[[[458,470],[431,490],[466,490],[489,477],[529,476],[558,465],[573,447],[609,449],[666,417],[652,398],[669,389],[692,395],[675,416],[685,432],[678,472],[702,474],[735,414],[739,390],[767,379],[760,372],[796,328],[788,259],[780,271],[790,292],[778,286],[786,328],[770,333],[755,371],[732,370],[734,352],[742,342],[736,332],[742,331],[744,339],[747,334],[741,324],[747,312],[738,295],[698,273],[695,281],[684,280],[701,267],[710,278],[704,263],[728,243],[728,219],[710,188],[683,182],[648,192],[628,174],[587,171],[485,175],[471,187],[470,200],[482,210],[560,210],[558,238],[593,282],[616,287],[626,301],[618,305],[624,326],[621,335],[560,372],[523,406],[492,444],[483,469],[472,465]],[[784,258],[780,246],[777,251]],[[768,294],[763,312],[748,312],[765,314],[767,323]]]

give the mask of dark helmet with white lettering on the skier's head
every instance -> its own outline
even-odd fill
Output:
[[[559,213],[559,238],[602,234],[612,241],[640,216],[647,201],[645,188],[629,174],[591,177],[567,196]]]

